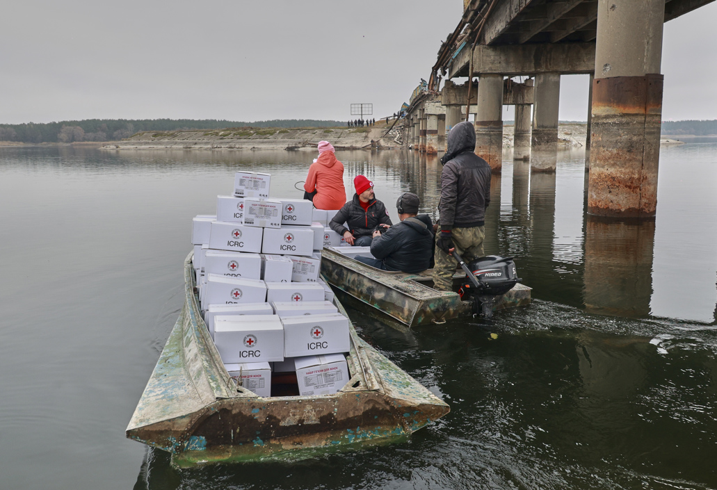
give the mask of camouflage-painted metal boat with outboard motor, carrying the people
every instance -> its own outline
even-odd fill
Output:
[[[347,256],[341,247],[328,247],[321,254],[321,272],[331,286],[408,327],[443,323],[475,313],[473,302],[463,301],[457,292],[431,287],[432,269],[419,274],[382,271]],[[455,274],[453,280],[457,290],[465,281],[465,273]],[[497,299],[494,308],[530,302],[531,288],[518,283]]]

